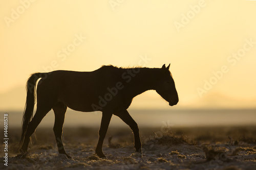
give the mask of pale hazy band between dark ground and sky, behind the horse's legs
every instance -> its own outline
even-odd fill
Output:
[[[251,126],[256,124],[256,108],[254,109],[194,109],[194,110],[160,110],[160,109],[128,109],[139,127],[202,127],[202,126]],[[6,112],[0,110],[0,115]],[[21,128],[23,110],[8,111],[9,127]],[[145,118],[146,117],[146,118]],[[0,119],[1,120],[1,119]],[[64,127],[99,128],[101,112],[79,112],[67,110]],[[0,123],[1,124],[1,123]],[[54,113],[51,110],[38,127],[53,127]],[[113,115],[111,127],[128,126]]]

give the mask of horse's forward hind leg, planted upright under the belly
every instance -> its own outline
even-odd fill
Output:
[[[54,122],[54,127],[53,131],[55,134],[55,139],[58,147],[58,151],[60,154],[65,154],[68,158],[71,158],[69,156],[64,147],[63,147],[63,142],[62,142],[62,131],[63,131],[63,123],[65,119],[65,113],[67,111],[67,106],[61,102],[57,103],[57,105],[53,106],[53,111],[55,114],[55,122]]]

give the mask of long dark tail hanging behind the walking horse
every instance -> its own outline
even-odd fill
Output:
[[[25,134],[28,129],[28,124],[30,123],[32,117],[33,117],[33,110],[35,105],[35,86],[36,81],[40,78],[40,73],[37,72],[35,74],[32,74],[30,78],[27,81],[26,90],[27,90],[27,99],[25,104],[25,109],[23,113],[23,119],[22,119],[22,138],[19,142],[19,147],[24,142]]]

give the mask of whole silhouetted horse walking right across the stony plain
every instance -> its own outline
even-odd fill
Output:
[[[133,98],[146,90],[156,90],[170,106],[178,103],[178,93],[169,66],[170,64],[167,67],[164,64],[161,68],[118,68],[104,65],[90,72],[55,70],[32,74],[26,85],[27,99],[22,120],[22,137],[19,142],[20,153],[27,153],[31,135],[42,118],[53,109],[53,131],[58,152],[71,158],[62,143],[63,123],[69,107],[82,112],[102,112],[95,150],[100,158],[106,157],[102,152],[102,144],[113,114],[130,126],[134,133],[136,152],[142,154],[138,125],[127,109]],[[35,99],[37,105],[33,116]]]

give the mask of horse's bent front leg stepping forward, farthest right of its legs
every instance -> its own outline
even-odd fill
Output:
[[[139,127],[135,120],[132,118],[132,116],[129,114],[127,110],[114,114],[120,117],[125,124],[130,126],[134,134],[134,147],[136,149],[136,152],[142,153]]]

